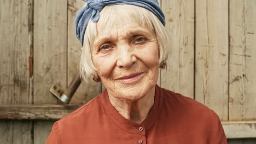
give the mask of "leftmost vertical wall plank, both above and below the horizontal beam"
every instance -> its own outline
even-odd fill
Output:
[[[0,1],[0,104],[30,104],[30,0]],[[30,121],[0,121],[1,143],[32,143]]]

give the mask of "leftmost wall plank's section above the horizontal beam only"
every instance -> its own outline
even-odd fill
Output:
[[[28,1],[1,1],[0,104],[27,104]]]

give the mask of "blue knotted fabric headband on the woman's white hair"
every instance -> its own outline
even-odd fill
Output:
[[[75,18],[75,34],[78,40],[80,40],[82,46],[84,43],[84,33],[88,25],[89,20],[97,22],[100,19],[100,11],[105,5],[117,5],[117,4],[132,4],[138,7],[146,8],[155,14],[161,21],[162,25],[165,25],[165,15],[162,13],[157,0],[83,0],[87,2],[86,7],[81,9],[77,17]]]

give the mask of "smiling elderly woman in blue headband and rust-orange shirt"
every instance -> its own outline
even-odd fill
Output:
[[[216,113],[156,85],[164,25],[156,0],[88,1],[75,22],[80,74],[106,90],[55,122],[46,143],[227,143]]]

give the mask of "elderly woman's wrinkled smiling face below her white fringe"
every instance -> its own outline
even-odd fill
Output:
[[[112,97],[143,98],[158,81],[158,52],[154,32],[127,17],[112,26],[97,23],[92,61]]]

